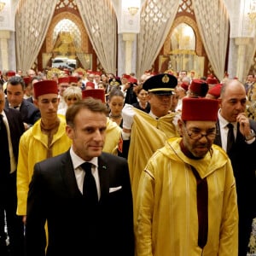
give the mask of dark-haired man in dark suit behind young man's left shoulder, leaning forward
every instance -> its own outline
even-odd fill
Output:
[[[24,123],[25,129],[31,127],[41,114],[39,109],[24,99],[25,83],[22,78],[14,76],[7,82],[7,101],[5,106],[9,108],[16,108],[21,113],[21,118]]]

